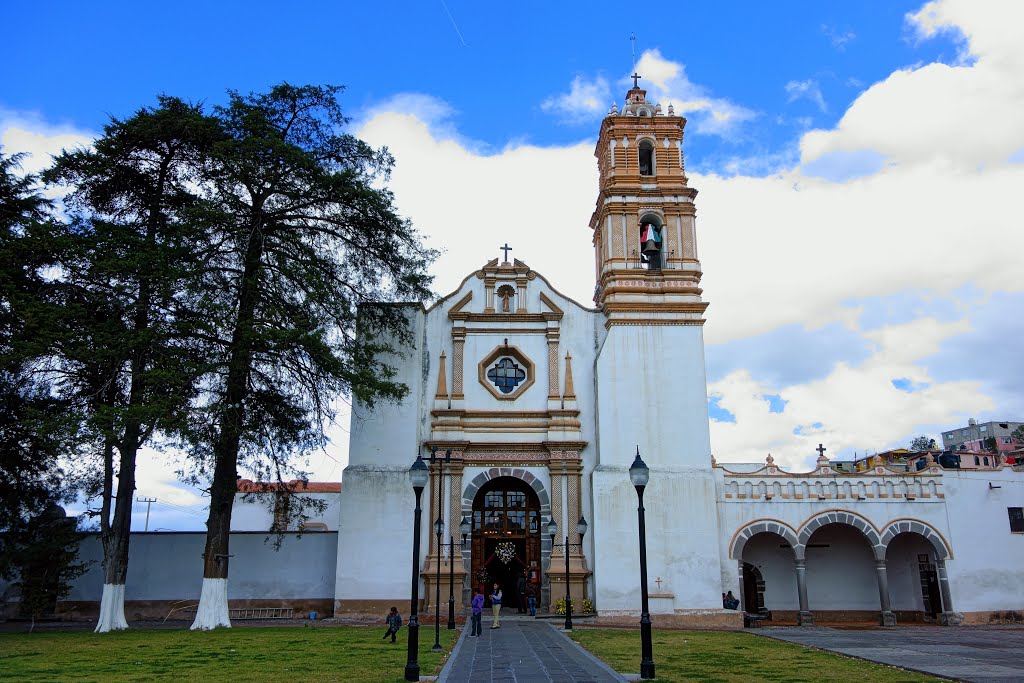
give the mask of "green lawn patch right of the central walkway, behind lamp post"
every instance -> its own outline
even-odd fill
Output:
[[[571,637],[620,673],[640,672],[640,632],[583,629]],[[937,681],[895,667],[862,661],[746,633],[655,631],[654,667],[659,683],[674,681]]]

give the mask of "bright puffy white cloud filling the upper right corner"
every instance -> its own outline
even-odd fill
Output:
[[[948,160],[964,168],[1001,164],[1024,146],[1024,4],[949,0],[908,14],[922,39],[964,36],[957,66],[929,63],[897,71],[865,90],[834,130],[801,141],[803,161],[834,152],[873,151],[895,163]]]

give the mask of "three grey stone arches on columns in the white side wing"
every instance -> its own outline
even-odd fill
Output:
[[[756,519],[729,544],[748,613],[779,622],[942,621],[952,605],[944,537],[918,519],[881,528],[850,510],[824,510],[793,525]],[[943,622],[945,623],[945,622]]]

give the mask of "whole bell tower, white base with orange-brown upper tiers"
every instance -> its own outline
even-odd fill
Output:
[[[598,464],[593,482],[594,584],[602,613],[639,610],[637,447],[644,494],[651,612],[707,625],[721,610],[722,563],[705,377],[705,309],[694,198],[683,164],[686,120],[647,100],[634,75],[601,124],[591,218],[607,335],[595,367]],[[655,597],[656,595],[656,597]],[[690,618],[690,615],[692,618]],[[727,618],[727,617],[723,617]]]

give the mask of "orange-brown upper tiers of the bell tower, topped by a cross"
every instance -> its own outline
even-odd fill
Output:
[[[686,119],[647,99],[634,69],[620,112],[601,123],[600,180],[591,217],[594,301],[616,324],[702,325],[696,190],[683,163]]]

